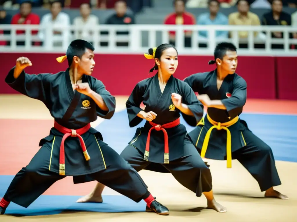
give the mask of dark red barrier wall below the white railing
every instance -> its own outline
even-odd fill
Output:
[[[57,73],[67,68],[67,62],[64,64],[56,62],[56,57],[61,54],[0,53],[0,56],[2,61],[0,94],[17,93],[4,82],[4,78],[20,56],[28,57],[33,63],[33,66],[26,68],[27,73]],[[211,56],[179,56],[178,59],[179,65],[174,75],[179,79],[215,68],[214,65],[208,65],[208,61],[213,59]],[[279,95],[282,99],[297,99],[297,87],[294,87],[291,76],[294,73],[293,69],[288,72],[293,67],[293,60],[294,58],[288,62],[288,58],[240,57],[236,72],[247,81],[248,97],[276,98],[275,67],[277,67]],[[154,61],[146,59],[143,55],[97,54],[95,61],[93,76],[103,81],[107,90],[113,95],[129,95],[138,81],[153,75],[152,73],[148,75],[148,72],[153,67]],[[275,66],[275,62],[280,65]],[[283,66],[286,66],[286,69],[283,69]]]

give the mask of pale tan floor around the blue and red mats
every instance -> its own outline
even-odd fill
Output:
[[[117,97],[117,111],[125,109],[127,97]],[[274,107],[273,112],[292,113],[296,112],[296,102],[280,102],[282,105],[275,106],[274,101],[249,100],[245,107],[246,112],[266,112],[267,107]],[[271,104],[270,104],[271,103]],[[279,103],[279,104],[280,104]],[[295,113],[296,114],[296,113]],[[51,120],[45,106],[33,99],[24,96],[0,96],[0,118],[2,119],[40,119]],[[98,125],[102,120],[98,119],[92,126]],[[26,132],[24,132],[26,133]],[[13,135],[11,135],[13,137]],[[8,140],[10,138],[7,138]],[[0,148],[1,149],[1,148]],[[58,215],[14,217],[1,215],[0,221],[296,221],[297,218],[297,163],[277,161],[277,169],[282,180],[282,185],[276,187],[290,197],[289,200],[276,200],[263,198],[264,193],[260,192],[257,182],[249,175],[236,160],[232,168],[226,168],[225,161],[209,160],[213,176],[213,190],[215,198],[222,205],[227,207],[227,213],[217,213],[214,210],[204,209],[206,207],[205,197],[195,197],[189,190],[181,186],[170,174],[140,171],[149,190],[162,204],[170,209],[170,216],[159,216],[154,213],[62,213]],[[1,174],[1,173],[0,173]],[[66,180],[66,179],[65,179]],[[71,179],[69,186],[72,185]],[[91,189],[94,182],[80,184],[80,187]],[[53,187],[54,189],[54,187]],[[67,189],[67,187],[65,187]],[[115,194],[112,190],[106,189],[105,194]],[[78,194],[81,195],[81,194]],[[57,200],[59,201],[59,200]],[[202,207],[202,208],[201,208]]]

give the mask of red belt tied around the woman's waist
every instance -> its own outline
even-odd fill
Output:
[[[173,128],[177,126],[180,123],[180,119],[176,119],[173,122],[170,123],[165,123],[163,125],[159,125],[153,122],[149,122],[153,127],[150,128],[149,133],[148,133],[148,138],[146,140],[146,151],[144,152],[144,157],[143,159],[146,161],[149,161],[149,140],[151,138],[151,131],[153,129],[160,131],[162,130],[164,133],[164,163],[169,163],[169,147],[168,147],[168,134],[165,129],[168,128]]]

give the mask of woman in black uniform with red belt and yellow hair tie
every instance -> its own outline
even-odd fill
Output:
[[[203,193],[208,208],[226,212],[226,208],[214,200],[211,172],[201,159],[189,138],[186,127],[180,124],[180,114],[185,121],[196,126],[203,116],[203,105],[191,87],[173,77],[178,56],[170,44],[149,49],[148,59],[155,59],[150,70],[156,75],[137,83],[126,102],[129,126],[137,126],[143,119],[146,123],[137,128],[135,136],[121,153],[135,170],[170,172],[184,187],[197,197]],[[143,102],[145,109],[140,108]],[[104,185],[98,183],[91,194],[78,202],[102,202]],[[150,211],[147,206],[146,211]]]

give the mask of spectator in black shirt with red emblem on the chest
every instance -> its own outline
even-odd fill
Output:
[[[126,1],[123,0],[119,0],[116,2],[115,4],[115,10],[116,13],[111,15],[107,20],[106,20],[106,24],[108,25],[131,25],[131,24],[135,24],[135,20],[134,20],[134,16],[132,15],[128,15],[127,14],[127,4]],[[124,35],[127,36],[129,35],[128,31],[117,31],[116,35]],[[106,43],[103,43],[105,46]],[[117,46],[128,46],[129,43],[128,42],[116,42]]]

